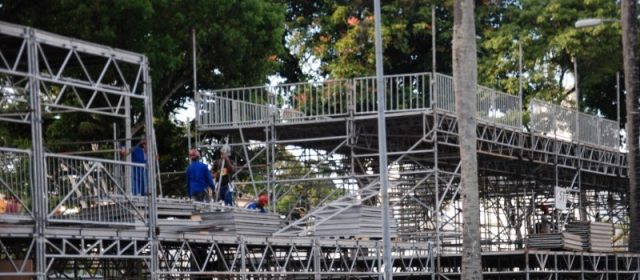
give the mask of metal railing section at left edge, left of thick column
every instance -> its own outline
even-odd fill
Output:
[[[30,158],[28,150],[0,148],[0,198],[12,204],[4,214],[33,217]]]

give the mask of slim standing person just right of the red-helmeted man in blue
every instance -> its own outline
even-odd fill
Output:
[[[220,157],[213,165],[213,174],[216,183],[218,183],[218,197],[216,200],[224,201],[225,205],[233,206],[234,188],[232,184],[233,172],[236,170],[234,162],[229,158],[231,155],[231,147],[224,145],[220,148]]]

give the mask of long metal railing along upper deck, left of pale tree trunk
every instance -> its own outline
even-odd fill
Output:
[[[420,110],[431,106],[431,74],[384,77],[387,112]],[[290,83],[200,93],[199,126],[203,128],[299,122],[375,113],[378,110],[375,77]]]

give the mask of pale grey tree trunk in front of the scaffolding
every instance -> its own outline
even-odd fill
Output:
[[[480,201],[476,150],[476,29],[473,0],[455,0],[453,17],[453,89],[458,117],[462,177],[462,279],[482,279]]]

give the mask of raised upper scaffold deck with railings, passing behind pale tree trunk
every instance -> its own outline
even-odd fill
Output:
[[[453,78],[436,73],[384,77],[388,154],[406,151],[436,128],[437,141],[457,145]],[[517,95],[477,87],[478,149],[488,156],[522,158],[587,171],[625,176],[626,153],[620,125],[572,108],[532,99],[525,108]],[[226,136],[241,130],[244,141],[308,146],[350,154],[343,141],[354,138],[354,125],[377,133],[375,77],[281,84],[201,92],[197,129]],[[526,120],[526,121],[524,121]],[[277,136],[269,136],[267,130]],[[277,139],[272,139],[277,138]],[[377,150],[377,139],[370,147]],[[415,141],[411,139],[415,138]],[[305,142],[312,142],[304,144]],[[337,148],[336,148],[337,147]],[[444,147],[442,147],[444,148]]]

